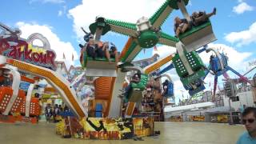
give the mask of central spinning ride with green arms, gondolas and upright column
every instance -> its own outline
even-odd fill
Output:
[[[157,43],[166,46],[175,46],[178,53],[170,54],[168,57],[162,58],[158,62],[147,66],[144,68],[144,74],[150,74],[166,62],[173,61],[176,71],[186,90],[193,91],[195,94],[204,89],[202,78],[205,77],[205,66],[194,50],[216,40],[210,21],[208,20],[203,23],[202,26],[193,26],[191,30],[187,31],[185,34],[179,35],[179,39],[174,38],[161,30],[162,23],[165,22],[172,10],[182,10],[182,14],[187,21],[191,22],[185,7],[187,3],[188,1],[166,1],[152,17],[142,17],[138,19],[136,24],[99,17],[96,18],[96,22],[90,25],[90,33],[94,34],[96,41],[99,41],[101,35],[106,34],[110,30],[118,34],[130,36],[128,42],[126,42],[126,46],[120,54],[118,70],[116,71],[116,67],[114,67],[114,74],[112,74],[115,75],[117,72],[117,78],[113,78],[112,80],[112,83],[115,85],[113,85],[114,89],[110,93],[112,95],[112,100],[110,102],[110,117],[118,116],[117,110],[119,109],[112,104],[120,103],[120,99],[115,97],[116,95],[119,95],[118,90],[122,89],[122,85],[120,84],[125,78],[125,74],[122,73],[122,70],[126,69],[126,66],[131,66],[130,62],[132,62],[143,48],[150,48]],[[194,38],[196,38],[196,40]],[[93,67],[91,67],[90,62],[99,62],[99,60],[93,61],[85,52],[83,54],[82,65],[86,67],[87,75],[108,76],[103,74],[98,75],[97,71],[104,71],[104,68],[102,68],[102,65],[97,65],[97,63],[94,63]],[[143,87],[132,90],[142,91]],[[142,94],[140,95],[142,97]],[[129,102],[127,106],[127,110],[129,111],[126,112],[126,117],[130,117],[133,114],[132,111],[134,110],[134,106],[134,102]]]

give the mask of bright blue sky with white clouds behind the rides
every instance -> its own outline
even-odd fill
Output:
[[[1,2],[0,22],[11,27],[19,27],[24,38],[34,32],[42,33],[49,39],[51,48],[58,55],[58,60],[62,60],[64,52],[68,65],[78,65],[80,50],[78,43],[82,42],[83,34],[80,26],[88,30],[88,26],[98,15],[135,23],[142,16],[149,18],[163,2],[165,0],[8,0]],[[211,46],[222,47],[230,57],[230,66],[243,73],[246,71],[247,62],[256,59],[256,2],[254,0],[191,0],[187,10],[190,14],[195,10],[211,12],[214,7],[217,8],[217,15],[210,19],[218,40]],[[176,16],[182,16],[179,10],[171,13],[163,24],[162,30],[167,34],[174,35],[173,19]],[[120,51],[127,39],[126,36],[114,33],[102,37],[103,41],[114,42]],[[145,54],[142,51],[136,59],[149,58],[154,53],[164,57],[172,51],[174,48],[158,46],[158,51],[148,49]],[[72,54],[75,62],[71,62]],[[209,54],[202,53],[201,56],[207,65]],[[176,94],[180,95],[182,86],[180,82],[178,83],[177,74],[172,70],[170,75],[177,82]],[[206,81],[213,83],[213,78],[206,78]]]

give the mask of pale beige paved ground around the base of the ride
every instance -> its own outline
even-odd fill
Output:
[[[76,138],[64,139],[54,132],[54,124],[41,122],[38,125],[28,123],[0,123],[0,143],[2,144],[231,144],[235,143],[245,129],[241,125],[201,123],[201,122],[155,122],[155,130],[160,130],[158,137],[143,138],[144,141],[94,141]]]

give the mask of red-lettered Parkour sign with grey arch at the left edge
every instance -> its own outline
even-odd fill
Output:
[[[54,50],[50,50],[50,44],[42,34],[31,34],[26,40],[19,37],[21,30],[11,30],[1,23],[0,28],[3,30],[0,34],[0,54],[22,62],[56,70],[54,63],[56,54]],[[34,46],[35,39],[40,40],[43,46]]]

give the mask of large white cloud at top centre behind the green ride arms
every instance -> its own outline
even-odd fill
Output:
[[[142,16],[150,18],[163,2],[165,0],[83,0],[81,5],[69,10],[67,15],[74,19],[74,31],[78,38],[82,38],[80,27],[83,26],[89,31],[88,27],[95,21],[96,16],[135,23]]]

